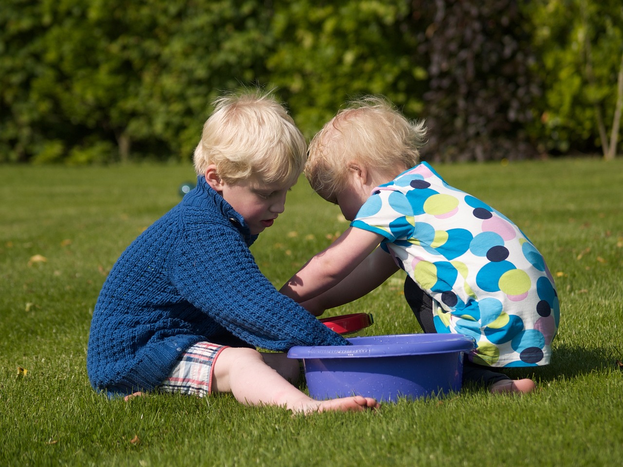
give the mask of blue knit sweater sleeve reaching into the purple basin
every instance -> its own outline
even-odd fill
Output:
[[[277,291],[231,225],[184,229],[169,261],[171,281],[179,294],[254,346],[285,351],[296,345],[348,344]]]

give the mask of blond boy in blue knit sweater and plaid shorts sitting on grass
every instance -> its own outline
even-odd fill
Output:
[[[194,153],[196,188],[117,260],[95,305],[87,369],[97,390],[231,392],[293,412],[364,410],[376,400],[316,401],[291,346],[345,339],[278,293],[249,251],[283,212],[306,144],[292,118],[259,91],[217,99]]]

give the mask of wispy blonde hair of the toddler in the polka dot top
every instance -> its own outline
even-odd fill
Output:
[[[384,97],[353,101],[312,139],[305,176],[314,191],[331,197],[345,186],[353,161],[380,171],[416,166],[424,136],[424,121],[407,120]]]

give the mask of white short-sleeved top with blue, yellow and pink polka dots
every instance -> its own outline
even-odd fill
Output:
[[[434,298],[437,332],[476,339],[474,362],[549,363],[560,319],[554,280],[503,214],[421,163],[374,189],[351,225],[385,237],[384,250]]]

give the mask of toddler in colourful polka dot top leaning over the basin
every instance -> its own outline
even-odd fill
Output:
[[[424,332],[475,337],[464,381],[492,393],[530,392],[532,380],[490,368],[549,363],[559,323],[553,278],[515,224],[418,164],[425,133],[383,98],[359,101],[326,123],[310,143],[305,173],[351,226],[281,291],[317,316],[400,267]]]

